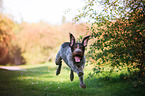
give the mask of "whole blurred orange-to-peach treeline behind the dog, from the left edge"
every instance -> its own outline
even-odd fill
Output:
[[[0,24],[3,25],[0,26],[1,64],[39,64],[53,61],[60,45],[69,41],[69,32],[79,37],[86,35],[88,29],[87,24],[14,24],[8,18],[0,19]]]

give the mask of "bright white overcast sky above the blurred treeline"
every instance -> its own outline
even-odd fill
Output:
[[[78,14],[77,9],[83,6],[84,0],[3,0],[4,13],[11,15],[18,23],[44,21],[59,25],[63,16],[67,22],[72,22]],[[71,11],[67,12],[69,9]]]

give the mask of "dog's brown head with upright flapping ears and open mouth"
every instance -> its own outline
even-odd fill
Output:
[[[84,37],[82,43],[75,43],[75,37],[70,33],[70,44],[71,51],[73,54],[73,60],[75,63],[81,62],[84,57],[85,47],[87,46],[90,36]]]

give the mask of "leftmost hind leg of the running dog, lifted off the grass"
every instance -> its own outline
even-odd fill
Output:
[[[58,68],[56,70],[56,75],[59,75],[60,74],[60,71],[61,71],[61,66],[62,66],[62,58],[60,56],[60,51],[57,53],[56,55],[56,59],[55,59],[55,64],[58,65]]]

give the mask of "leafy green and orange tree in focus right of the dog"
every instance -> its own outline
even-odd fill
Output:
[[[98,11],[101,10],[101,11]],[[92,37],[88,58],[94,73],[127,67],[143,78],[145,71],[145,2],[143,0],[88,0],[76,20],[89,18]],[[101,67],[105,65],[104,67]]]

